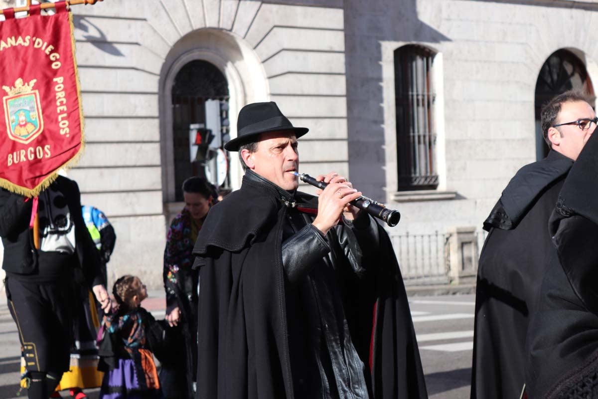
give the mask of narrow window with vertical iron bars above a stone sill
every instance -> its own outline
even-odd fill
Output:
[[[436,188],[434,52],[420,45],[395,50],[398,190]]]

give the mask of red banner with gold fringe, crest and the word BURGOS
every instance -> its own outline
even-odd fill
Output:
[[[36,196],[72,166],[83,150],[83,114],[75,63],[72,16],[56,14],[0,22],[0,187]]]

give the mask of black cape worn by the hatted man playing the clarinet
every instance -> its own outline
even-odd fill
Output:
[[[298,206],[317,198],[295,193]],[[199,267],[197,398],[293,398],[286,339],[281,238],[286,207],[276,190],[244,178],[210,209],[193,253]],[[371,365],[374,398],[427,397],[401,273],[388,234],[347,313],[352,339]],[[366,376],[367,377],[367,376]]]

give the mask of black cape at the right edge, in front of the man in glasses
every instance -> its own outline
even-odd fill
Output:
[[[530,323],[530,398],[598,398],[598,135],[571,168],[550,220],[554,251]]]

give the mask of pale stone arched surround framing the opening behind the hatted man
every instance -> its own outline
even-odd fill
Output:
[[[205,78],[203,83],[200,80],[193,87],[190,86],[188,82],[196,80],[198,74],[206,75],[208,78]],[[214,85],[215,81],[218,82],[216,85]],[[191,112],[191,116],[186,120],[181,118],[181,121],[176,123],[176,108],[173,100],[176,93],[179,93],[177,91],[179,89],[175,89],[175,86],[179,86],[180,93],[183,94],[181,97],[185,97],[185,94],[191,95],[196,101],[195,110],[185,105],[188,107],[187,112]],[[233,33],[212,28],[202,28],[187,33],[173,45],[164,60],[158,87],[162,191],[164,214],[168,223],[170,216],[181,210],[181,203],[177,198],[180,196],[179,180],[182,180],[178,177],[181,173],[177,169],[185,170],[186,167],[187,172],[193,171],[193,165],[190,165],[191,158],[194,156],[190,152],[189,125],[202,123],[198,118],[202,117],[201,109],[205,109],[205,103],[219,103],[222,106],[221,112],[228,112],[228,129],[223,129],[222,134],[234,138],[237,135],[236,117],[242,106],[251,102],[267,101],[270,95],[266,71],[251,45]],[[216,91],[210,92],[210,90]],[[187,98],[189,101],[189,96]],[[225,109],[223,99],[224,102],[227,100],[228,111]],[[184,101],[184,99],[176,100],[176,102]],[[198,101],[203,101],[204,106],[198,106]],[[226,119],[224,116],[222,115],[222,122]],[[178,129],[180,131],[175,133]],[[225,141],[228,138],[223,139]],[[180,142],[178,150],[175,150],[175,141]],[[228,181],[234,190],[240,187],[243,173],[236,153],[231,155],[227,160],[230,163]],[[179,162],[181,165],[177,166]],[[182,172],[182,174],[186,173]]]

